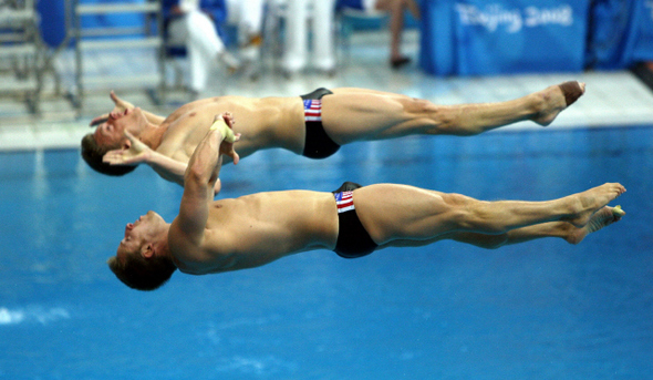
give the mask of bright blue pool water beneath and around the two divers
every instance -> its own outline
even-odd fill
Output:
[[[221,196],[355,181],[541,201],[621,182],[628,215],[578,246],[317,250],[138,292],[105,260],[126,223],[174,218],[182,188],[77,151],[0,154],[0,378],[651,379],[652,173],[649,126],[259,152],[224,168]]]

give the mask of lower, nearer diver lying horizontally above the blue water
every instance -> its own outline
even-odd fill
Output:
[[[217,116],[197,145],[172,224],[148,212],[125,227],[107,263],[127,286],[153,290],[176,269],[191,275],[246,269],[313,249],[356,258],[443,239],[483,248],[541,237],[578,244],[625,214],[608,206],[625,192],[616,183],[546,202],[484,202],[406,185],[353,183],[333,193],[286,191],[214,202],[222,155],[238,162],[239,135],[231,124],[229,114]]]

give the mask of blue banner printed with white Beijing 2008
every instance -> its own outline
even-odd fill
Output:
[[[588,8],[589,0],[427,0],[422,66],[437,75],[581,71]]]

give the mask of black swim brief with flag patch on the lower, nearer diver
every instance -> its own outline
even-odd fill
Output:
[[[371,253],[379,247],[356,214],[354,207],[353,192],[361,185],[353,182],[345,182],[333,193],[338,206],[338,240],[335,251],[344,258],[357,258]]]

